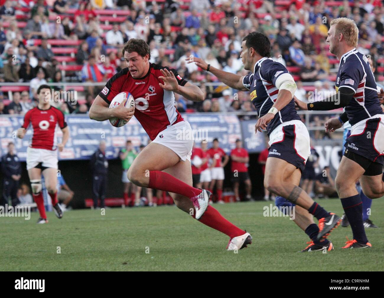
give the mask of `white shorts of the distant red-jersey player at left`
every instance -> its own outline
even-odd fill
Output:
[[[36,168],[39,164],[45,168],[57,169],[57,150],[28,147],[26,149],[26,169]]]

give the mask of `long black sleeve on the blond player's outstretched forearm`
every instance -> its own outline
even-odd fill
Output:
[[[355,92],[353,89],[340,87],[336,94],[331,95],[324,100],[310,102],[307,104],[307,108],[309,111],[328,111],[343,108],[349,104],[354,94]]]

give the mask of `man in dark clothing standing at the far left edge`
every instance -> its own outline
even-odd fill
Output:
[[[3,196],[1,205],[9,203],[11,199],[12,206],[15,207],[19,202],[17,198],[17,190],[19,188],[19,180],[22,174],[22,167],[19,158],[15,154],[15,144],[8,143],[8,153],[1,158],[1,171],[4,175]]]

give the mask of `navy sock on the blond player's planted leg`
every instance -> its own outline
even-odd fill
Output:
[[[362,221],[362,201],[359,194],[348,198],[340,199],[343,205],[344,212],[351,224],[353,239],[359,243],[366,244],[368,242],[367,236]]]

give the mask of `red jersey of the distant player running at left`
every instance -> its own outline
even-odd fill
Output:
[[[27,129],[30,124],[33,129],[30,147],[47,150],[57,149],[56,125],[61,129],[67,126],[63,112],[52,106],[48,110],[34,107],[26,112],[22,127]]]

